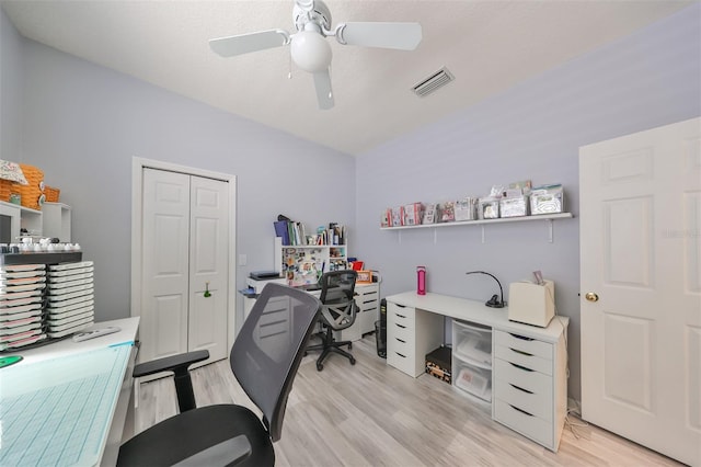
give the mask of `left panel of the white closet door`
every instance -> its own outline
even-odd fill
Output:
[[[187,351],[189,175],[143,170],[139,361]]]

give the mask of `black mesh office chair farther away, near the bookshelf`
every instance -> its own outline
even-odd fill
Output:
[[[321,315],[320,322],[324,328],[320,334],[322,343],[310,345],[307,351],[321,350],[321,355],[317,358],[317,369],[324,369],[323,362],[332,353],[338,353],[355,365],[355,357],[342,350],[344,345],[348,350],[353,349],[350,341],[334,341],[333,332],[349,328],[355,322],[358,310],[353,294],[355,291],[355,280],[358,273],[352,270],[331,271],[321,276]]]

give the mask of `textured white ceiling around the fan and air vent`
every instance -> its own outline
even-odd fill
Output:
[[[232,58],[207,41],[261,30],[295,32],[292,0],[0,0],[22,35],[331,148],[361,153],[633,33],[692,1],[336,1],[334,25],[416,21],[413,52],[333,50],[335,106],[321,111],[312,77],[280,47]],[[456,80],[417,98],[411,88],[446,66]],[[288,79],[290,71],[292,77]]]

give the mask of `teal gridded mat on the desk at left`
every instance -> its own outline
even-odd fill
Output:
[[[131,345],[0,369],[0,466],[100,464]]]

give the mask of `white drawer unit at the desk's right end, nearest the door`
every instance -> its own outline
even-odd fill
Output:
[[[544,342],[494,330],[492,418],[558,451],[566,414],[564,335]]]

